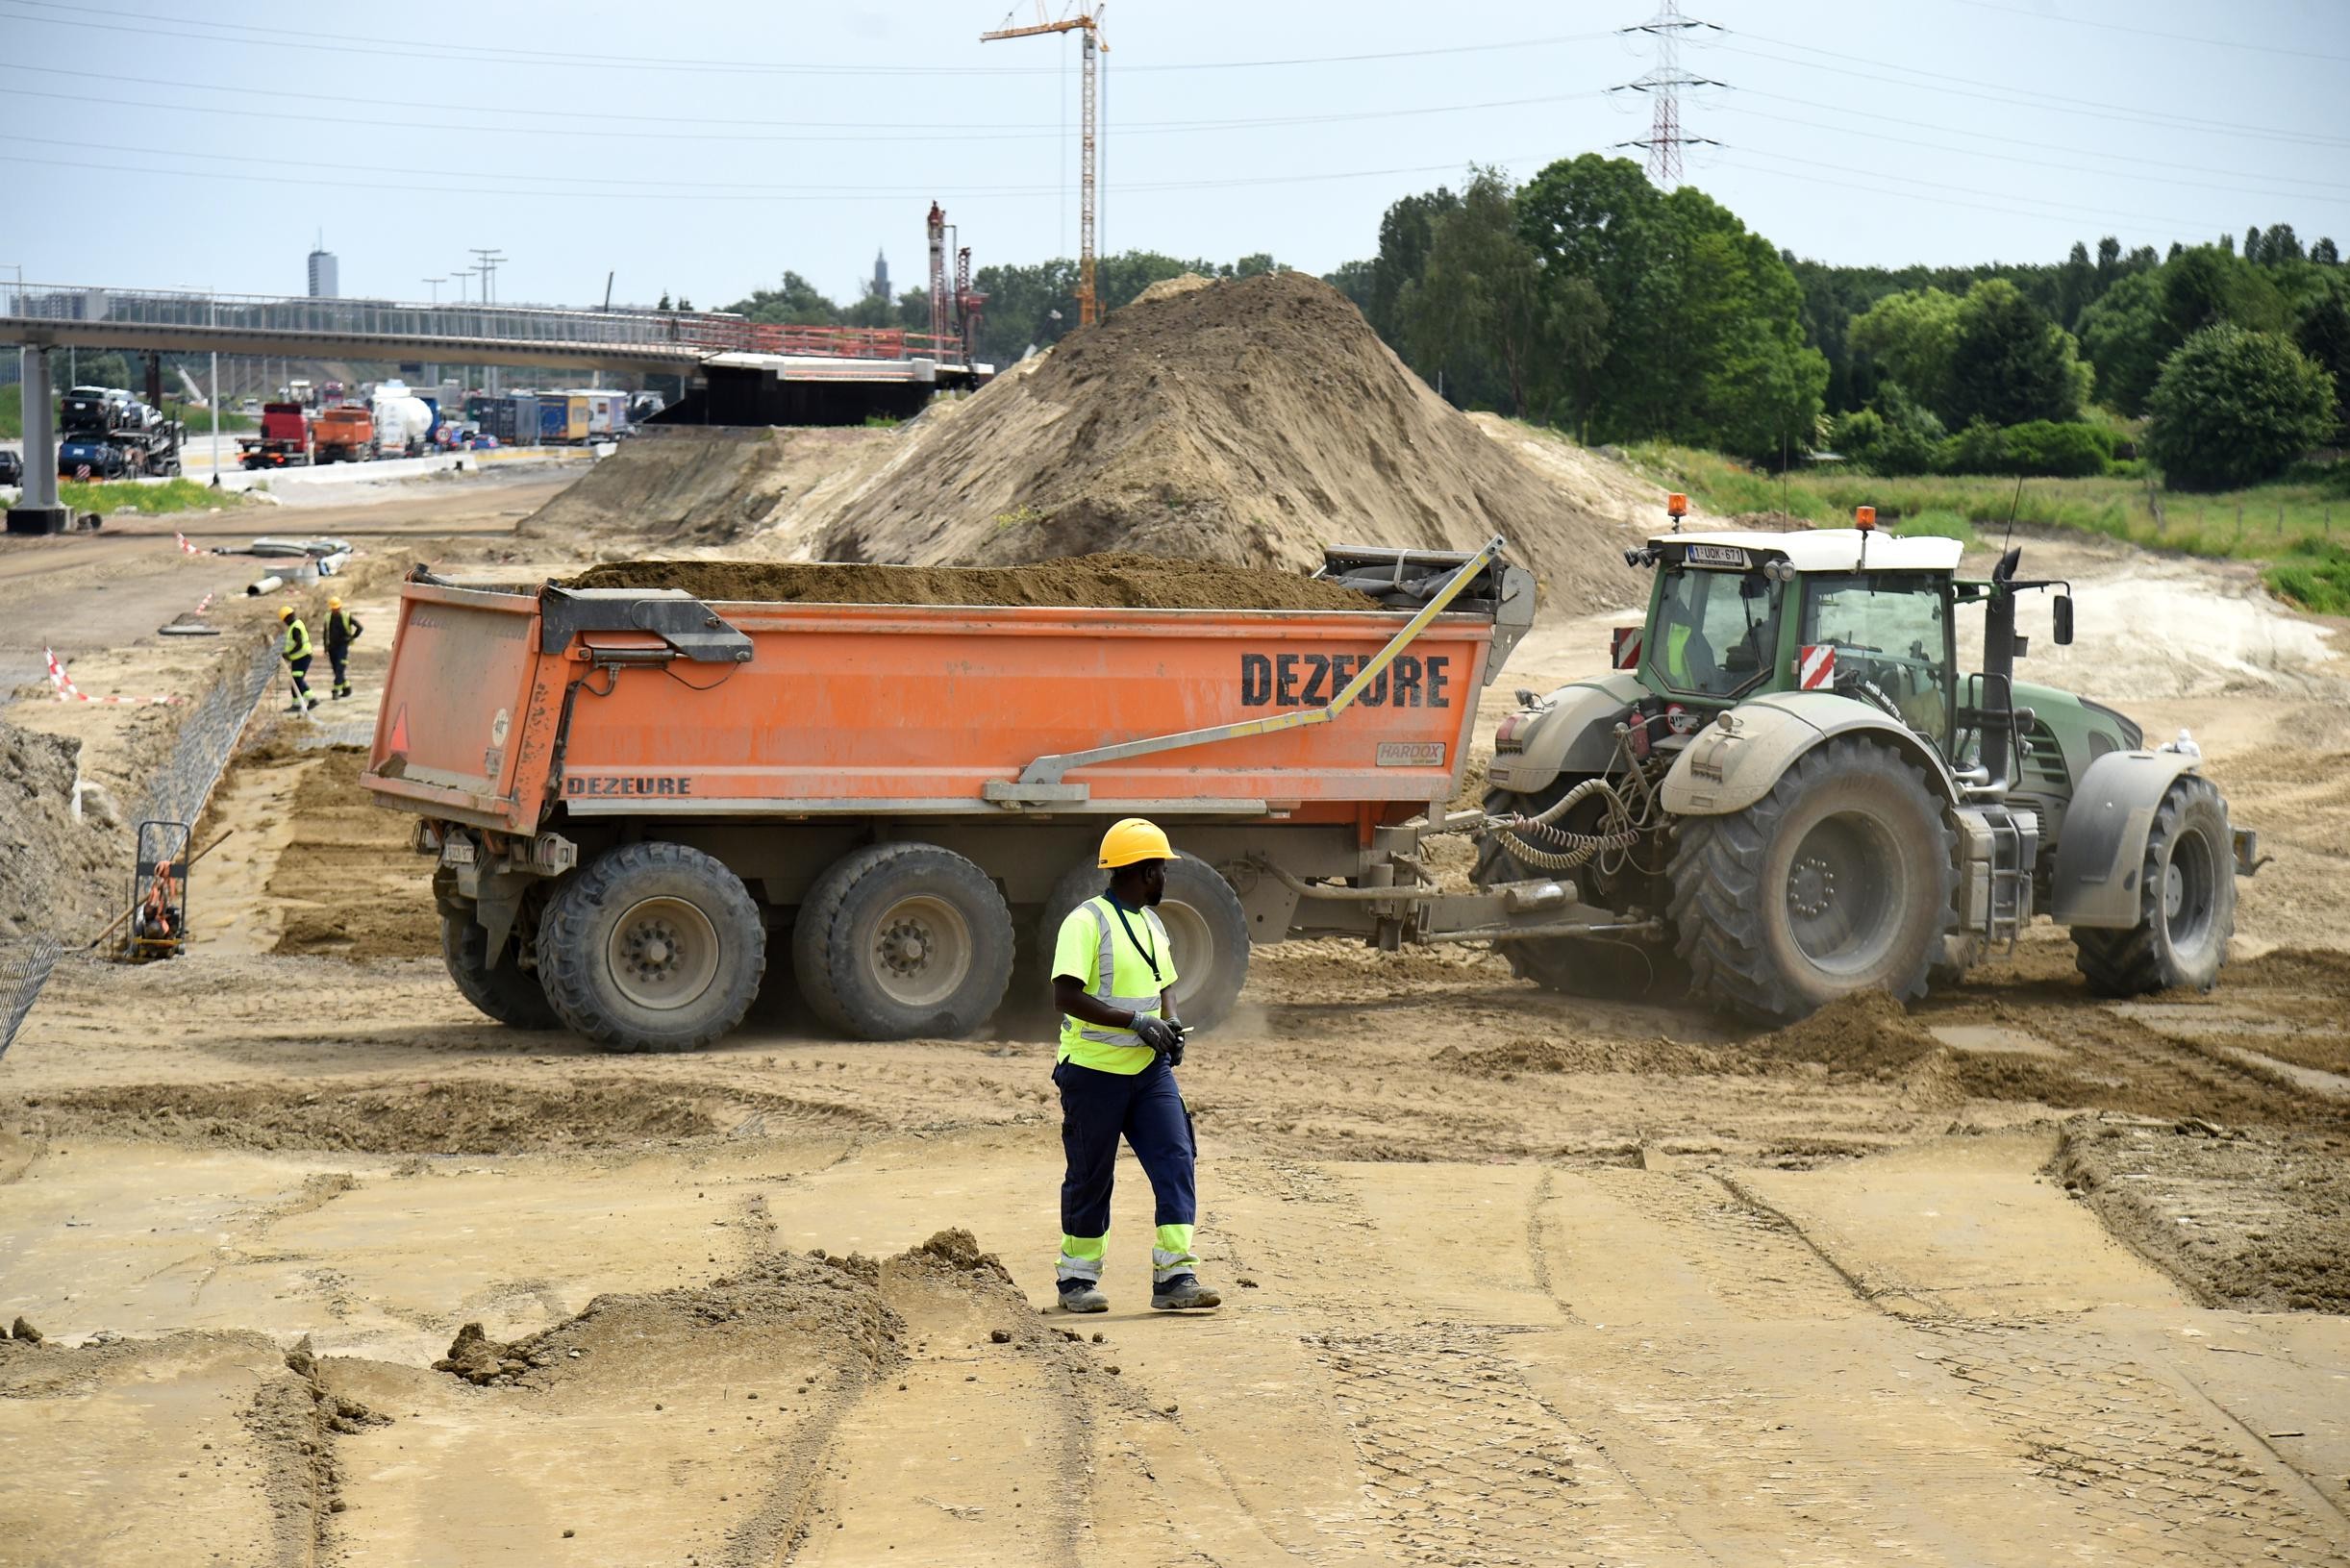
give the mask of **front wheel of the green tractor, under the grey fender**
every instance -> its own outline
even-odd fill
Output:
[[[2209,778],[2181,773],[2146,835],[2138,924],[2127,931],[2075,929],[2075,964],[2101,997],[2174,987],[2204,992],[2218,980],[2232,933],[2235,835],[2228,802]]]

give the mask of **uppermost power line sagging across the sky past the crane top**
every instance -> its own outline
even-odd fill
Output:
[[[148,38],[188,38],[195,42],[226,42],[226,45],[251,45],[268,49],[310,49],[324,54],[392,54],[402,59],[435,59],[446,61],[446,49],[416,49],[411,38],[383,38],[369,33],[320,33],[310,31],[303,38],[287,38],[284,28],[266,28],[240,21],[202,21],[193,16],[174,16],[162,12],[122,12],[122,9],[92,9],[87,5],[66,5],[63,0],[0,0],[14,7],[42,9],[42,12],[68,12],[68,16],[19,16],[19,21],[35,21],[47,26],[92,26],[108,28],[115,33],[141,33]],[[96,21],[99,16],[118,16],[120,21]],[[157,26],[164,24],[164,26]],[[200,26],[214,28],[212,33],[172,33],[169,26]],[[223,33],[244,33],[247,38],[230,38]],[[1177,61],[1159,66],[1128,66],[1128,71],[1262,71],[1276,66],[1351,66],[1361,61],[1386,61],[1386,59],[1424,59],[1429,54],[1490,54],[1499,49],[1539,49],[1551,45],[1591,42],[1607,38],[1607,33],[1553,33],[1546,38],[1518,38],[1506,42],[1480,42],[1480,45],[1448,45],[1441,49],[1386,49],[1370,54],[1302,54],[1292,59],[1238,59],[1238,61]],[[336,40],[336,42],[320,42]],[[571,49],[508,49],[501,45],[465,45],[465,56],[482,59],[498,66],[559,66],[559,68],[585,68],[585,71],[686,71],[686,73],[719,73],[719,75],[1053,75],[1050,66],[818,66],[797,61],[740,61],[740,59],[682,59],[682,56],[634,56],[634,54],[588,54]]]

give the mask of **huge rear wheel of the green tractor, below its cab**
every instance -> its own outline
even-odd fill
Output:
[[[1958,865],[1925,776],[1845,738],[1744,811],[1685,820],[1671,882],[1690,992],[1788,1023],[1856,990],[1922,997]]]

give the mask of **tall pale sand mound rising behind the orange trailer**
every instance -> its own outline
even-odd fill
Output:
[[[804,541],[815,559],[1147,550],[1316,567],[1323,545],[1506,534],[1565,609],[1645,585],[1624,534],[1448,407],[1335,289],[1267,273],[1147,299],[971,397]]]

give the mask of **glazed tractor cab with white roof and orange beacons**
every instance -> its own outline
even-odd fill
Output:
[[[1657,569],[1647,623],[1617,635],[1617,668],[1687,733],[1723,708],[1835,691],[1899,719],[1948,757],[1958,712],[1955,538],[1873,527],[1666,534],[1631,550]]]

